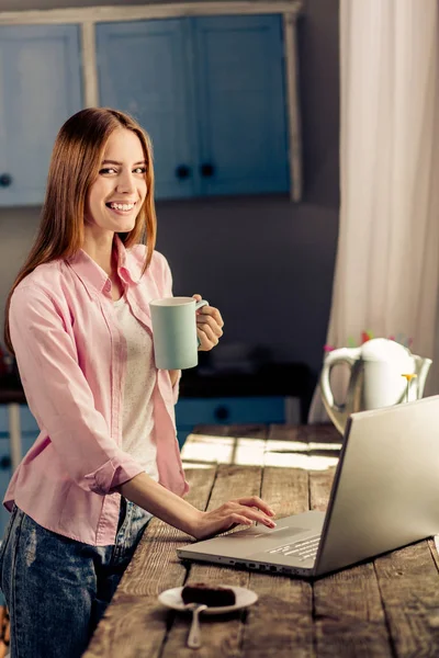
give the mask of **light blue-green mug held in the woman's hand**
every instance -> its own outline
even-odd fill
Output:
[[[185,370],[199,362],[195,310],[209,302],[193,297],[164,297],[149,303],[156,366]]]

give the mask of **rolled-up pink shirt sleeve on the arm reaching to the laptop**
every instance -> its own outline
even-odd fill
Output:
[[[75,483],[105,495],[142,473],[95,409],[68,318],[50,296],[34,286],[15,288],[9,320],[31,411]]]

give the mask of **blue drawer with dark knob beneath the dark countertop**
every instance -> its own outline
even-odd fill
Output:
[[[183,398],[176,406],[177,426],[283,422],[285,398]]]

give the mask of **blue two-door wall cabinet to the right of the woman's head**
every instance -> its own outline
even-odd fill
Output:
[[[288,192],[280,15],[97,25],[101,105],[149,133],[157,198]]]

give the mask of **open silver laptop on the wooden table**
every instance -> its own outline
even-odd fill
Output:
[[[182,559],[316,578],[439,533],[439,395],[352,413],[326,513],[177,549]]]

